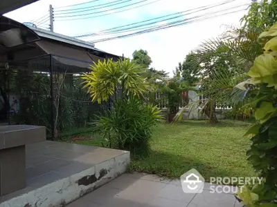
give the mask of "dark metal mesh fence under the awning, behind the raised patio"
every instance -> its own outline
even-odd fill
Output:
[[[44,55],[12,63],[8,70],[0,68],[0,86],[10,102],[6,123],[46,126],[48,137],[57,138],[91,128],[109,109],[109,103],[92,102],[82,87],[82,72],[88,69],[68,66],[61,59],[66,60]]]

